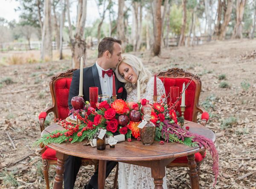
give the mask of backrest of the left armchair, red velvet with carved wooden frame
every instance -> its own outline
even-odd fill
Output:
[[[67,72],[60,73],[51,78],[50,91],[52,95],[53,112],[56,118],[66,119],[68,115],[68,94],[75,70],[76,69],[70,69],[67,70]]]

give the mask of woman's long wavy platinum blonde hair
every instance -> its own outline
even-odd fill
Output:
[[[137,77],[138,77],[137,82],[138,81],[140,82],[140,91],[141,91],[141,93],[145,93],[148,80],[151,78],[151,75],[152,75],[151,72],[143,66],[140,59],[137,58],[136,56],[122,55],[122,60],[117,64],[115,73],[116,73],[116,78],[119,81],[125,83],[125,89],[126,89],[127,93],[130,93],[131,90],[133,90],[134,88],[137,88],[137,83],[132,84],[131,82],[126,81],[123,78],[123,76],[120,75],[120,73],[118,72],[118,68],[119,68],[119,65],[122,63],[128,64],[132,67],[134,72],[137,74]]]

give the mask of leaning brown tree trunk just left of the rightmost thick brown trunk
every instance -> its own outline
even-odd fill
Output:
[[[224,40],[226,36],[227,25],[230,21],[231,12],[232,12],[232,4],[233,4],[233,0],[227,0],[227,8],[225,9],[226,12],[224,14],[224,20],[223,20],[223,23],[221,24],[221,29],[218,36],[219,40]]]

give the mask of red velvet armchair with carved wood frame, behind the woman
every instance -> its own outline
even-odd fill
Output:
[[[185,72],[183,69],[179,68],[173,68],[169,69],[166,72],[160,72],[158,73],[157,77],[160,78],[163,81],[165,90],[166,90],[166,96],[169,94],[170,87],[171,86],[177,86],[180,88],[180,92],[182,91],[182,84],[185,82],[187,84],[189,80],[192,78],[193,74],[189,72]],[[201,125],[206,125],[209,114],[202,108],[200,105],[198,105],[199,96],[201,92],[201,80],[198,76],[195,76],[195,78],[192,80],[192,82],[189,84],[189,87],[186,89],[186,109],[184,112],[184,118],[188,121],[197,122],[197,115],[198,112],[202,113],[201,116]],[[167,99],[169,103],[169,98]],[[177,105],[177,111],[180,112],[180,103]],[[195,161],[197,163],[197,169],[199,172],[199,168],[201,163],[203,163],[205,157],[204,153],[196,153],[195,154]],[[176,158],[172,163],[168,165],[168,167],[187,167],[188,166],[188,160],[187,157],[179,157]]]

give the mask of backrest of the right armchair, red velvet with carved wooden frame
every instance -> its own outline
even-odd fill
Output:
[[[182,85],[185,82],[187,84],[189,80],[194,76],[192,73],[185,72],[183,69],[173,68],[169,69],[166,72],[160,72],[157,77],[163,81],[166,96],[168,96],[170,92],[170,87],[177,86],[179,87],[180,92],[182,91]],[[186,109],[184,112],[184,118],[186,120],[197,122],[197,114],[199,110],[199,96],[201,92],[201,80],[198,76],[192,80],[189,84],[189,87],[186,89],[186,98],[185,98],[185,105]],[[167,103],[169,103],[170,98],[167,99]],[[180,112],[180,103],[177,105],[177,111]]]

